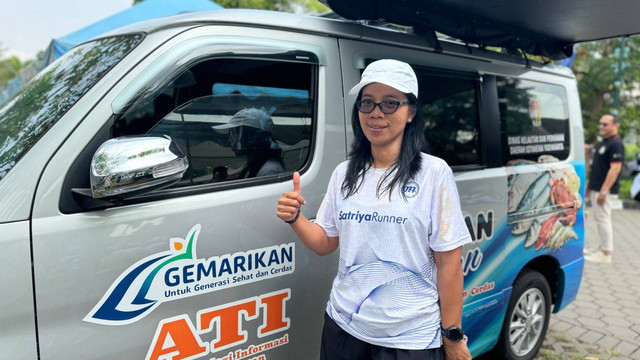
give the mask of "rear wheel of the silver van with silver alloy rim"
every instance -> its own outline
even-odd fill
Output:
[[[549,327],[551,289],[537,271],[525,269],[513,284],[498,340],[502,359],[531,360],[540,350]]]

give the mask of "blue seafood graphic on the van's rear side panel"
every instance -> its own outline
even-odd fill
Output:
[[[493,236],[480,236],[480,214],[468,216],[477,224],[467,223],[476,239],[463,250],[462,325],[473,351],[495,345],[512,285],[524,267],[557,264],[557,279],[551,279],[562,284],[554,297],[556,312],[575,298],[584,264],[584,161],[560,164],[545,155],[538,162],[514,160],[507,171],[507,216],[491,215]]]

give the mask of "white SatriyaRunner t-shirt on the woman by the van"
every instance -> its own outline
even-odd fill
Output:
[[[369,169],[359,191],[344,199],[347,164],[334,170],[316,219],[327,236],[340,237],[327,313],[370,344],[408,350],[441,346],[433,251],[471,241],[451,169],[422,154],[421,171],[403,189],[396,186],[391,200],[388,193],[376,195],[386,169]]]

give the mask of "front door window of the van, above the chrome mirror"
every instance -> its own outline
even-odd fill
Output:
[[[213,59],[185,69],[115,123],[114,136],[169,135],[189,160],[173,187],[299,170],[311,144],[313,66]]]

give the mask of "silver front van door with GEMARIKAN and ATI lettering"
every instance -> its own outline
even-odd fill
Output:
[[[316,356],[308,344],[336,258],[297,242],[276,205],[301,171],[313,218],[346,158],[343,115],[327,106],[342,101],[336,40],[220,26],[145,41],[164,44],[105,86],[38,185],[41,358]],[[232,134],[244,109],[265,113],[269,129]],[[184,177],[115,204],[83,197],[95,149],[138,134],[171,136],[189,160]],[[275,175],[257,176],[256,149]]]

